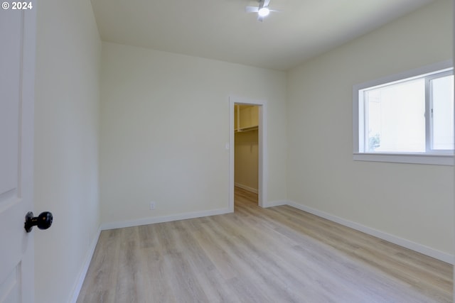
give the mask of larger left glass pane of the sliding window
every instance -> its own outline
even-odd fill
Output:
[[[407,82],[365,91],[365,151],[425,152],[425,82]]]

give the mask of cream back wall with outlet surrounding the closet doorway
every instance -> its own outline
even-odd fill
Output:
[[[101,79],[102,223],[227,211],[230,95],[267,101],[268,200],[286,198],[284,72],[103,42]]]

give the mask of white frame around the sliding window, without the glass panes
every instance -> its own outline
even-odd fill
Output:
[[[426,153],[365,153],[364,144],[364,123],[363,114],[363,89],[378,87],[383,84],[392,84],[401,82],[404,79],[412,77],[419,78],[441,72],[453,73],[452,60],[446,60],[433,65],[419,67],[414,70],[402,72],[400,74],[382,77],[373,81],[355,84],[353,86],[353,160],[373,161],[373,162],[399,162],[399,163],[416,163],[430,165],[454,165],[453,150],[431,150],[429,140],[426,142]],[[440,76],[438,76],[440,77]],[[429,98],[428,96],[426,98]],[[429,105],[426,102],[426,110],[429,113]],[[428,120],[428,119],[427,119]],[[426,136],[430,138],[431,126],[426,123]],[[361,127],[360,127],[361,126]]]

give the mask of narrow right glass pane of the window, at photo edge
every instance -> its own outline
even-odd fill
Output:
[[[432,87],[432,148],[454,149],[454,76],[430,81]]]

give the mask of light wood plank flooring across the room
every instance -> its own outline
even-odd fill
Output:
[[[452,266],[291,206],[102,231],[82,302],[452,302]]]

